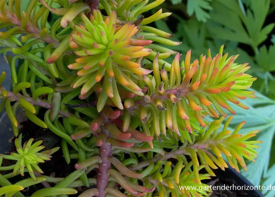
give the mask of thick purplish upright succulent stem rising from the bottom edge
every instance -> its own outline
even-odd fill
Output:
[[[109,131],[104,129],[104,126],[101,129],[105,133],[105,135],[110,137]],[[112,157],[111,144],[107,144],[106,141],[103,142],[103,145],[99,147],[99,156],[101,157],[102,162],[99,163],[96,188],[99,191],[98,197],[105,197],[105,189],[109,182],[109,175],[107,174],[107,171],[111,168],[111,162],[108,160],[108,158]]]

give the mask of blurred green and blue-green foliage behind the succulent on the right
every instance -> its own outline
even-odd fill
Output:
[[[24,1],[22,6],[27,6],[30,0]],[[53,7],[56,5],[53,3]],[[172,50],[184,54],[192,49],[194,60],[208,48],[216,55],[224,44],[225,52],[240,55],[236,62],[251,66],[248,73],[258,78],[252,86],[258,97],[244,100],[249,110],[232,105],[237,112],[233,121],[247,122],[244,133],[261,130],[257,139],[264,144],[260,145],[257,163],[249,163],[249,171],[242,174],[254,185],[275,185],[275,0],[166,0],[152,12],[159,9],[172,15],[156,21],[155,26],[175,34],[172,40],[182,42],[170,46]],[[53,24],[56,17],[49,15],[49,23]],[[262,192],[267,197],[275,196],[274,190]]]

